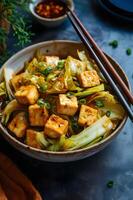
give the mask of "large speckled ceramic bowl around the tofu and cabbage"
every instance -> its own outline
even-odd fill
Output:
[[[34,44],[32,46],[29,46],[14,56],[12,56],[2,67],[1,75],[3,69],[15,68],[16,71],[20,69],[20,66],[23,66],[24,63],[31,59],[34,55],[35,50],[39,49],[42,53],[46,55],[57,55],[60,57],[67,57],[68,55],[77,57],[77,49],[78,50],[84,50],[86,51],[83,44],[79,42],[74,41],[65,41],[65,40],[56,40],[56,41],[47,41],[47,42],[41,42],[38,44]],[[87,53],[87,51],[86,51]],[[87,53],[88,54],[88,53]],[[123,81],[126,83],[126,85],[130,88],[128,79],[120,67],[120,65],[110,56],[108,56],[108,59],[114,66],[114,68],[117,70],[118,74],[121,76]],[[11,70],[10,73],[13,73]],[[38,160],[42,161],[50,161],[50,162],[68,162],[68,161],[75,161],[80,160],[85,157],[91,156],[102,149],[104,149],[121,131],[123,128],[125,122],[127,120],[127,115],[125,114],[125,117],[120,122],[119,126],[104,140],[100,141],[99,143],[79,150],[74,151],[66,151],[66,152],[51,152],[46,150],[39,150],[32,147],[27,146],[26,144],[21,143],[18,141],[15,137],[13,137],[6,128],[0,123],[0,129],[2,130],[3,137],[17,150],[23,152],[24,154],[36,158]]]

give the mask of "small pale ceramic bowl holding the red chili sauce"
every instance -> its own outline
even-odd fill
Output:
[[[35,12],[35,7],[38,3],[42,2],[42,0],[33,0],[32,3],[29,4],[29,9],[31,14],[33,15],[33,17],[39,22],[41,23],[43,26],[45,27],[56,27],[61,25],[66,19],[67,19],[67,15],[62,15],[58,18],[44,18],[39,16],[36,12]],[[71,10],[74,10],[74,3],[73,0],[67,0],[66,1],[69,8],[71,8]]]

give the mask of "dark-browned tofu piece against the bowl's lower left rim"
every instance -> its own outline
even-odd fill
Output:
[[[8,125],[9,130],[13,132],[18,138],[22,138],[25,135],[27,127],[28,122],[25,112],[18,113]]]

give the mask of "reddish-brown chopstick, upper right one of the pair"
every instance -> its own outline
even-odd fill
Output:
[[[68,8],[69,9],[69,8]],[[114,81],[116,82],[116,84],[120,85],[120,89],[124,92],[125,96],[127,97],[128,101],[133,104],[133,95],[130,93],[128,87],[126,86],[126,84],[124,83],[124,81],[121,79],[121,77],[118,75],[118,73],[116,72],[116,70],[114,69],[114,67],[112,66],[112,64],[109,62],[108,58],[105,56],[105,54],[103,53],[103,51],[100,49],[100,47],[97,45],[97,43],[95,42],[95,40],[92,38],[92,36],[90,35],[90,33],[85,29],[85,27],[82,25],[81,21],[79,20],[79,18],[76,16],[76,14],[71,11],[69,9],[71,15],[73,16],[73,18],[75,19],[75,21],[77,21],[78,25],[80,26],[80,28],[82,29],[83,33],[85,34],[85,36],[87,37],[88,41],[90,42],[90,44],[92,45],[92,48],[96,51],[96,53],[98,54],[98,57],[101,58],[101,61],[104,62],[104,65],[106,66],[106,70],[108,72],[110,72],[110,75],[113,76]]]

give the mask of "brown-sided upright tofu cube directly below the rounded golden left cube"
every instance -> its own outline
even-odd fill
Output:
[[[48,111],[38,104],[29,106],[29,121],[31,126],[44,126],[48,119]]]

